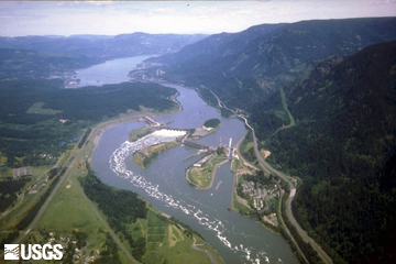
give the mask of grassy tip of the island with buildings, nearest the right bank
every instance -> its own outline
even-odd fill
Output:
[[[226,161],[226,155],[215,154],[209,161],[202,164],[201,167],[190,167],[187,170],[187,177],[190,183],[196,185],[197,188],[208,188],[212,180],[213,170],[216,165]]]

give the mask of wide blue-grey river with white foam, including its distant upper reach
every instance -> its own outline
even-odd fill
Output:
[[[79,86],[103,85],[128,81],[129,70],[147,56],[113,59],[81,69],[77,78]],[[166,85],[179,91],[177,100],[183,111],[169,117],[157,118],[158,122],[172,121],[170,128],[193,129],[211,118],[221,120],[220,130],[201,142],[217,146],[220,141],[234,145],[246,129],[235,118],[222,118],[219,111],[207,106],[193,89],[178,85]],[[72,88],[72,87],[69,87]],[[290,246],[277,234],[266,230],[255,219],[239,215],[231,207],[234,175],[230,162],[217,170],[213,187],[196,190],[185,180],[185,170],[200,156],[187,158],[197,150],[177,146],[160,155],[146,169],[132,162],[132,153],[142,143],[128,142],[131,130],[145,125],[130,122],[107,130],[94,153],[92,167],[103,183],[138,193],[154,207],[183,221],[198,231],[222,256],[226,263],[298,263]],[[157,139],[146,138],[145,145]],[[218,183],[222,180],[219,189]]]

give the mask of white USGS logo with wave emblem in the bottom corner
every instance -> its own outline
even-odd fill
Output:
[[[22,260],[62,260],[63,253],[62,253],[62,245],[61,244],[29,244],[28,246],[24,244],[21,244],[21,251],[19,244],[4,244],[4,260],[6,261],[12,261],[12,260],[20,260],[20,256]]]

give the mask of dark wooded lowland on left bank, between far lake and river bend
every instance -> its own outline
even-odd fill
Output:
[[[123,82],[63,89],[59,79],[0,81],[0,153],[6,165],[52,164],[81,131],[141,107],[173,110],[176,90],[156,84]]]

